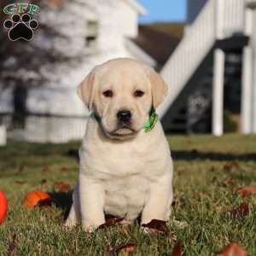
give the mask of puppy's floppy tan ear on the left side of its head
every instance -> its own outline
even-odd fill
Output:
[[[94,68],[79,84],[77,94],[87,108],[91,110],[96,91],[96,68]]]

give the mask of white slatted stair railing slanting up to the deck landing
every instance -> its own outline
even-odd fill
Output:
[[[169,86],[160,117],[172,106],[216,40],[244,32],[245,0],[208,0],[161,71]]]

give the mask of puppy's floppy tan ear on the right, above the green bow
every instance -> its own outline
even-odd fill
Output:
[[[168,85],[152,67],[148,67],[147,73],[151,83],[153,107],[156,109],[164,101],[168,92]]]

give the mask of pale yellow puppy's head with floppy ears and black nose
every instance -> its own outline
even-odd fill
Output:
[[[79,97],[101,119],[103,131],[119,139],[136,136],[166,92],[166,83],[153,68],[131,59],[95,67],[78,87]]]

